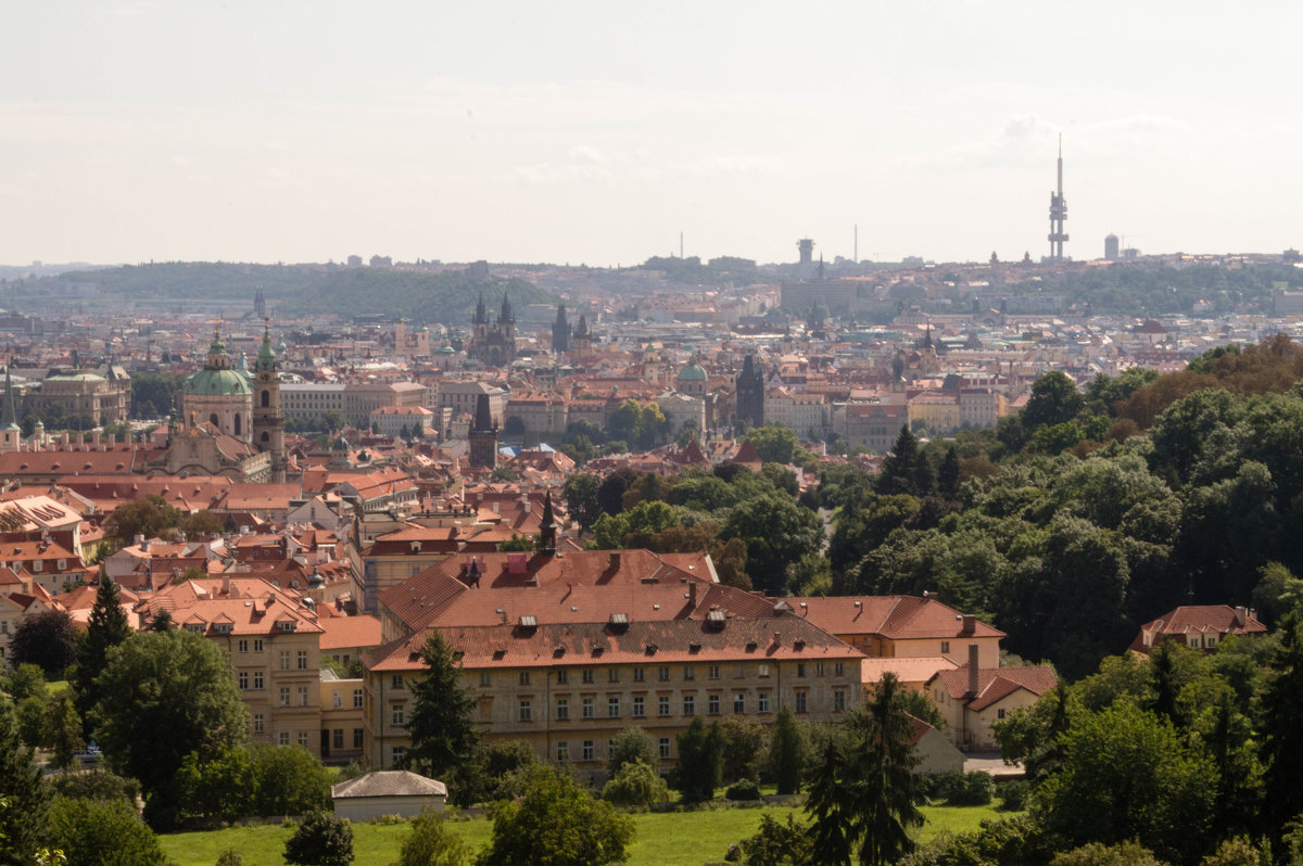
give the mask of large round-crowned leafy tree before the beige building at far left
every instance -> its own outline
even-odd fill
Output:
[[[169,827],[185,757],[245,740],[249,712],[229,656],[190,632],[134,634],[108,651],[95,684],[100,701],[94,729],[104,757],[141,781],[146,820]]]

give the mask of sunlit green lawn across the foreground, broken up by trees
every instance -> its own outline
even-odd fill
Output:
[[[992,806],[928,806],[928,823],[919,832],[921,840],[939,832],[976,830],[984,818],[995,818]],[[760,818],[771,814],[786,820],[791,809],[735,807],[715,811],[659,813],[633,815],[637,832],[629,846],[629,866],[701,866],[723,861],[730,843],[756,832]],[[796,811],[797,820],[804,813]],[[486,818],[459,820],[453,824],[473,849],[489,841],[493,823]],[[407,824],[353,824],[356,866],[390,866],[397,861],[399,845]],[[179,866],[212,866],[227,849],[240,853],[245,866],[279,866],[289,830],[280,826],[233,827],[210,832],[172,833],[162,836],[163,850]]]

